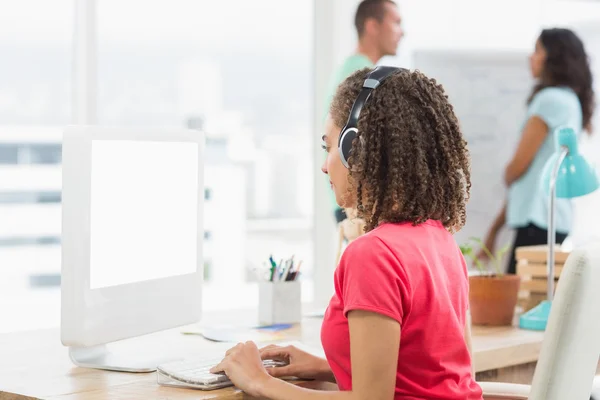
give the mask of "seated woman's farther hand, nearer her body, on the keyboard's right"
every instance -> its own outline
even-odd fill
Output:
[[[284,367],[267,368],[274,377],[295,376],[301,379],[317,379],[335,383],[335,378],[327,360],[313,356],[294,346],[280,347],[270,345],[260,349],[263,360],[285,361]]]

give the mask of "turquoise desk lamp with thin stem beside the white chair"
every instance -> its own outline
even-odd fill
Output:
[[[552,299],[554,297],[554,244],[556,227],[554,225],[554,201],[556,197],[571,199],[592,193],[600,187],[596,171],[577,149],[577,136],[569,127],[555,131],[558,142],[557,152],[550,157],[544,167],[543,184],[550,197],[548,207],[548,299],[527,311],[519,318],[519,327],[543,331],[548,324]]]

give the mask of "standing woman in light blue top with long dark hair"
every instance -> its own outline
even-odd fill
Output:
[[[569,29],[544,29],[529,59],[537,83],[527,101],[521,140],[504,171],[508,199],[492,224],[485,244],[493,253],[496,237],[505,225],[516,230],[508,273],[516,272],[515,249],[548,241],[548,195],[540,184],[546,161],[555,151],[553,132],[569,126],[591,134],[594,111],[592,73],[581,40]],[[556,200],[556,241],[571,229],[569,199]],[[479,258],[485,259],[484,252]]]

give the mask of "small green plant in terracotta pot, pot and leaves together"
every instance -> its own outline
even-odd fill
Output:
[[[475,246],[487,255],[487,263],[477,257]],[[471,238],[460,246],[465,257],[477,267],[478,274],[469,276],[469,305],[473,325],[512,325],[521,279],[504,273],[503,259],[509,246],[495,254],[479,238]],[[490,264],[492,269],[490,269]]]

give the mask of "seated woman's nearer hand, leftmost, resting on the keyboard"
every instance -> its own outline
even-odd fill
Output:
[[[256,397],[260,397],[260,388],[272,379],[254,342],[239,343],[227,350],[223,361],[210,369],[213,374],[221,371],[238,389]]]

